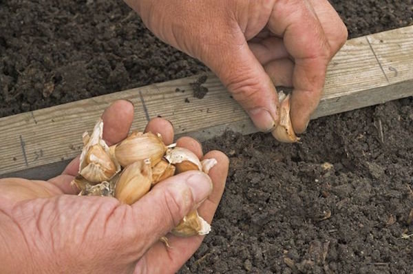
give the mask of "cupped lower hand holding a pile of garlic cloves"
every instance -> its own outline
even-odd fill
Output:
[[[116,101],[103,114],[108,144],[127,136],[133,107]],[[167,120],[151,120],[145,131],[173,141]],[[129,206],[110,197],[76,196],[70,185],[78,158],[48,181],[0,180],[1,273],[174,273],[200,246],[203,237],[168,235],[171,248],[158,240],[199,205],[211,222],[224,191],[229,161],[220,151],[202,156],[192,138],[178,140],[200,158],[215,158],[209,176],[180,173],[160,182]],[[210,179],[211,178],[211,179]],[[72,194],[72,195],[71,195]]]

